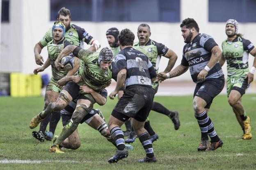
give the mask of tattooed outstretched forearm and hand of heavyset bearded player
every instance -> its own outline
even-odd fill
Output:
[[[172,71],[170,71],[169,73],[164,73],[164,72],[158,73],[158,80],[163,81],[165,79],[177,77],[177,76],[185,73],[188,68],[189,68],[188,66],[183,66],[180,64],[176,68],[174,68]]]

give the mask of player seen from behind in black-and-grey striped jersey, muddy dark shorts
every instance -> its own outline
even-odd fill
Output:
[[[118,149],[108,162],[114,163],[128,156],[120,127],[129,118],[132,118],[133,129],[146,152],[146,157],[140,162],[155,162],[152,143],[149,133],[144,129],[144,122],[153,104],[154,90],[151,81],[156,77],[156,72],[146,55],[132,47],[135,39],[133,32],[123,29],[118,39],[121,52],[115,56],[114,60],[117,67],[115,71],[118,73],[117,85],[110,93],[110,98],[114,99],[123,84],[125,84],[125,90],[108,122],[108,128]]]

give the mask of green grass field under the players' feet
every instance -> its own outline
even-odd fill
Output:
[[[133,143],[134,151],[128,158],[115,164],[107,163],[115,153],[115,147],[86,124],[79,125],[82,145],[78,150],[64,150],[65,154],[48,153],[52,142],[40,143],[32,138],[28,125],[31,118],[43,108],[43,97],[0,97],[0,169],[255,169],[256,168],[256,96],[245,95],[243,105],[251,117],[254,137],[249,141],[238,141],[242,130],[225,95],[213,101],[209,116],[224,145],[213,152],[197,152],[200,130],[192,109],[192,96],[155,97],[168,109],[180,114],[181,127],[175,131],[167,116],[151,112],[150,121],[158,133],[153,143],[157,163],[137,163],[145,156],[138,139]],[[108,99],[99,108],[108,120],[117,100]],[[37,127],[37,129],[39,129]],[[59,122],[55,135],[62,129]],[[20,161],[20,163],[14,163]],[[27,162],[25,162],[27,160]],[[11,163],[13,162],[13,163]]]

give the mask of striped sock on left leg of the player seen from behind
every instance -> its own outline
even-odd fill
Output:
[[[123,131],[120,129],[120,127],[114,127],[113,129],[111,129],[110,134],[112,136],[112,139],[115,141],[117,145],[117,149],[123,150],[125,147],[124,136],[123,136]]]

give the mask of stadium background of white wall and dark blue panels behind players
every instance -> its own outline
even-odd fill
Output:
[[[57,18],[61,7],[71,10],[71,23],[84,28],[101,43],[101,48],[108,46],[105,32],[110,27],[131,29],[135,35],[140,23],[148,23],[151,27],[151,39],[165,44],[178,55],[177,66],[181,62],[183,38],[180,23],[184,18],[194,18],[199,24],[200,32],[215,39],[220,46],[226,39],[225,22],[233,18],[239,22],[238,32],[244,34],[256,44],[255,0],[0,0],[2,22],[0,26],[0,77],[6,73],[32,74],[37,68],[34,61],[34,45],[39,42]],[[137,41],[137,37],[135,38]],[[88,46],[85,44],[85,48]],[[47,49],[41,52],[44,61]],[[254,57],[249,56],[249,67]],[[165,69],[167,59],[162,57],[160,71]],[[226,75],[226,63],[223,67]],[[42,74],[50,77],[50,67]],[[19,77],[19,75],[17,75]],[[0,90],[7,88],[4,78],[1,79]],[[8,80],[8,79],[7,79]],[[7,81],[6,80],[6,81]],[[192,93],[194,84],[189,71],[180,77],[169,79],[176,87],[185,84]],[[180,84],[179,84],[180,82]],[[186,83],[184,83],[186,82]],[[190,89],[190,86],[192,88]],[[1,89],[2,88],[2,89]],[[165,93],[168,89],[160,87]],[[9,89],[8,89],[9,90]],[[177,88],[178,90],[178,88]],[[174,90],[175,92],[176,90]],[[222,93],[225,93],[224,88]],[[249,93],[256,93],[255,81]],[[168,94],[178,94],[168,93]]]

